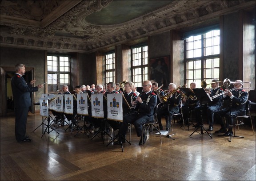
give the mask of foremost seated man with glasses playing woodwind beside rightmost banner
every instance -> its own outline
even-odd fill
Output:
[[[125,142],[125,135],[128,130],[129,123],[133,124],[137,136],[140,137],[139,145],[142,145],[147,139],[146,132],[143,133],[142,140],[142,126],[144,123],[154,121],[154,108],[156,107],[157,97],[151,91],[152,83],[150,81],[143,82],[144,93],[136,98],[136,101],[132,101],[132,105],[135,106],[135,113],[123,117],[123,123],[121,125],[121,141]]]

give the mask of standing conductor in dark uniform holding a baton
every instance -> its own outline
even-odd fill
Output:
[[[15,75],[11,79],[15,111],[15,137],[17,142],[29,142],[32,140],[26,136],[28,110],[31,106],[30,92],[37,92],[39,88],[44,87],[44,85],[32,87],[36,80],[32,80],[27,84],[22,77],[25,72],[24,64],[16,64]]]

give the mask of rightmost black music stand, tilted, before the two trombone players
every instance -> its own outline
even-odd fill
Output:
[[[193,91],[195,92],[195,94],[196,94],[196,97],[198,98],[198,100],[207,100],[207,101],[212,101],[212,98],[210,97],[210,95],[208,94],[208,93],[206,93],[205,92],[205,90],[203,89],[203,88],[195,88],[195,89],[193,89]],[[202,111],[201,111],[202,112]],[[210,137],[211,137],[211,139],[212,139],[212,136],[208,133],[208,131],[204,128],[204,126],[203,126],[203,117],[202,117],[202,113],[201,113],[201,123],[200,123],[200,125],[199,125],[199,127],[197,127],[196,129],[195,129],[195,131],[194,132],[197,132],[197,130],[200,128],[200,132],[197,132],[197,133],[199,133],[200,135],[203,135],[204,133],[207,133]],[[203,132],[203,129],[204,129],[204,131],[205,132]],[[192,132],[192,134],[191,135],[189,135],[189,137],[190,136],[192,136],[193,134],[194,134],[194,132]]]

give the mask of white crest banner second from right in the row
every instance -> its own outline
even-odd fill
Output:
[[[103,111],[103,94],[92,94],[92,117],[104,118]]]

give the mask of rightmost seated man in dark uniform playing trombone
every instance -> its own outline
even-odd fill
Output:
[[[242,89],[243,83],[241,80],[237,80],[234,83],[234,89],[229,90],[225,89],[223,94],[224,100],[230,101],[230,107],[221,109],[219,111],[216,111],[214,113],[214,120],[217,123],[220,123],[221,128],[218,131],[215,131],[216,133],[225,133],[224,136],[232,136],[233,131],[232,127],[229,127],[229,124],[234,124],[234,117],[236,116],[243,116],[246,114],[245,110],[245,103],[248,100],[248,92]],[[221,96],[222,97],[222,96]],[[224,122],[221,117],[224,117],[226,119],[226,125],[224,125]],[[227,131],[228,127],[228,131]]]

